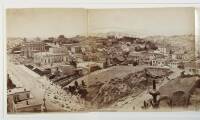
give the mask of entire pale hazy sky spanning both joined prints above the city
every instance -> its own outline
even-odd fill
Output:
[[[88,11],[88,13],[87,13]],[[88,28],[87,28],[88,25]],[[140,35],[194,33],[193,8],[8,9],[8,37],[67,37],[101,32]]]

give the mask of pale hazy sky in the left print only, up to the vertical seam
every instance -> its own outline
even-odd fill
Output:
[[[8,9],[8,37],[56,37],[86,35],[84,9]]]

